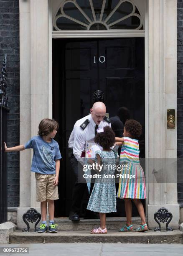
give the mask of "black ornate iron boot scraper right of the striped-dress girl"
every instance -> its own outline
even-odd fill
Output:
[[[158,223],[159,227],[154,228],[154,231],[161,231],[161,225],[160,222],[165,223],[166,222],[166,230],[167,231],[172,231],[173,228],[169,228],[168,224],[172,220],[172,213],[169,212],[166,208],[162,207],[158,210],[158,212],[155,212],[154,214],[154,219]],[[168,220],[169,219],[169,220]],[[168,220],[168,222],[167,222]]]

